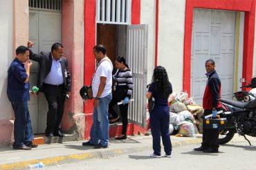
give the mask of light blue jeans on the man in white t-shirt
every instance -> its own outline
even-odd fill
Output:
[[[93,110],[93,125],[91,127],[90,142],[94,145],[109,145],[109,103],[112,94],[100,98],[99,106]]]

